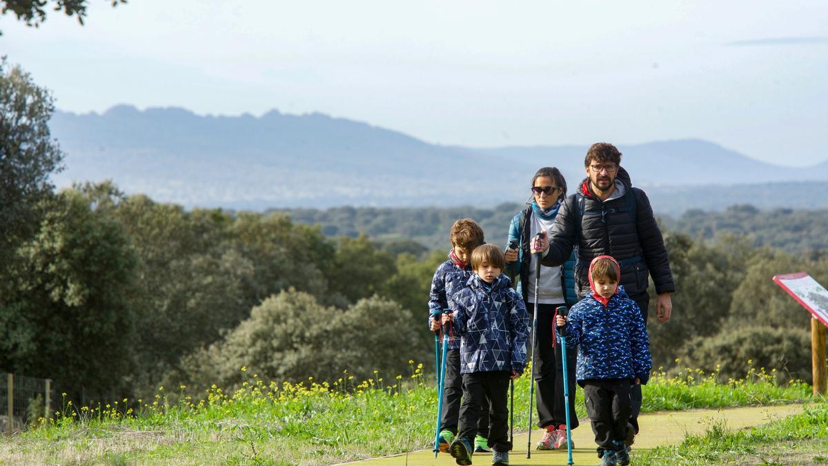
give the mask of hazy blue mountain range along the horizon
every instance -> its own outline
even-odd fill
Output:
[[[571,192],[584,177],[588,147],[442,146],[349,119],[276,110],[215,117],[118,105],[103,114],[56,111],[50,125],[67,153],[59,187],[112,179],[156,201],[246,210],[520,202],[542,166],[561,168]],[[619,148],[657,210],[828,206],[816,194],[816,186],[828,187],[828,161],[780,167],[698,139]]]

